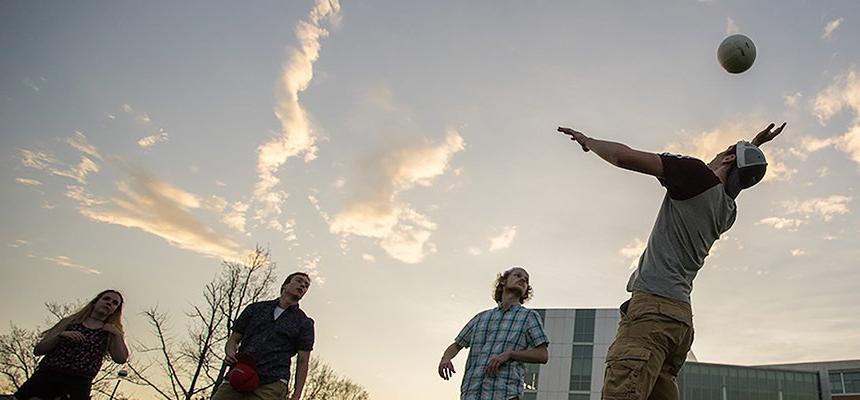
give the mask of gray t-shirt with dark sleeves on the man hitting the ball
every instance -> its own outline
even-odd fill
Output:
[[[735,222],[735,200],[701,160],[664,153],[663,205],[627,291],[690,302],[711,246]]]

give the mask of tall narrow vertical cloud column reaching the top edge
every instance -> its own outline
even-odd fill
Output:
[[[287,197],[285,192],[276,190],[281,166],[291,157],[301,156],[305,162],[316,158],[317,135],[307,111],[299,103],[299,93],[310,85],[313,65],[320,54],[320,39],[328,36],[328,31],[320,25],[323,20],[336,20],[339,12],[337,0],[318,0],[307,21],[299,21],[296,26],[298,47],[284,64],[274,110],[281,122],[280,136],[257,149],[254,198],[262,205],[257,214],[260,220],[276,218],[281,213],[280,204]]]

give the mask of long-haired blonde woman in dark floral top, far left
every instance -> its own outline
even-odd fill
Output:
[[[19,400],[90,398],[93,379],[110,354],[128,360],[122,330],[122,294],[105,290],[73,315],[42,332],[33,354],[44,356],[33,376],[15,393]]]

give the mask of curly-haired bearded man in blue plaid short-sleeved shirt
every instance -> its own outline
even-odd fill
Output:
[[[451,359],[471,347],[460,386],[461,400],[518,400],[523,394],[523,363],[546,364],[549,340],[540,315],[523,303],[531,298],[529,274],[513,267],[496,279],[497,307],[480,312],[445,349],[439,376],[454,374]]]

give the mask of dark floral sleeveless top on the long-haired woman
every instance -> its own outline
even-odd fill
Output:
[[[39,368],[95,378],[107,353],[110,333],[101,328],[90,329],[82,324],[69,325],[66,331],[80,332],[85,339],[75,342],[60,337],[60,343],[42,358]]]

